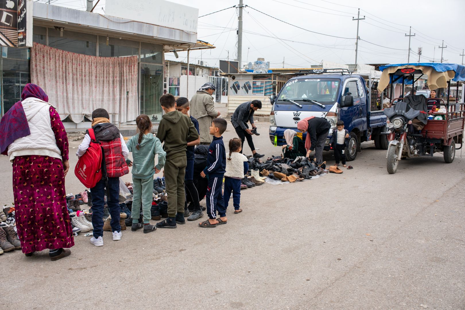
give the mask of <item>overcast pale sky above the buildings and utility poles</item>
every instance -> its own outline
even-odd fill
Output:
[[[110,1],[110,0],[108,0]],[[47,0],[40,0],[47,2]],[[199,16],[233,5],[237,0],[173,0],[179,4],[199,8]],[[447,6],[444,4],[447,3]],[[52,0],[54,5],[85,9],[86,0]],[[373,0],[244,0],[242,59],[254,61],[265,58],[271,67],[308,67],[322,60],[342,64],[355,63],[357,16],[360,8],[358,63],[406,63],[409,26],[412,26],[410,62],[418,61],[418,48],[423,48],[421,62],[441,59],[444,40],[444,62],[462,62],[465,48],[463,26],[464,0],[447,1],[373,1]],[[100,0],[95,12],[104,13],[105,0]],[[271,15],[291,26],[263,13]],[[198,39],[207,41],[215,49],[191,52],[191,63],[202,59],[210,66],[218,60],[237,57],[237,9],[229,8],[199,18]],[[332,37],[335,36],[335,37]],[[342,37],[342,38],[336,38]],[[343,39],[347,38],[347,39]],[[368,42],[367,42],[368,41]],[[371,43],[369,43],[371,42]],[[166,59],[175,59],[170,53]],[[179,53],[178,61],[186,61],[186,53]]]

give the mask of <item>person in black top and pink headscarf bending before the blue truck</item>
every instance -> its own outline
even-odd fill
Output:
[[[297,123],[297,129],[307,132],[305,139],[306,157],[315,157],[317,164],[323,163],[323,148],[328,137],[331,125],[321,117],[307,117]]]

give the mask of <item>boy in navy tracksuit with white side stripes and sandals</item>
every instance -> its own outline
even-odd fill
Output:
[[[223,185],[223,175],[226,172],[226,150],[223,143],[223,132],[226,131],[225,119],[213,119],[210,126],[210,134],[213,141],[208,147],[206,158],[206,168],[200,173],[202,178],[208,175],[208,187],[206,192],[206,211],[208,219],[199,223],[200,227],[215,227],[219,224],[226,224],[226,209],[221,187]],[[216,218],[218,210],[219,218]]]

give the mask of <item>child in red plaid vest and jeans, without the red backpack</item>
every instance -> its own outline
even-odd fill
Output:
[[[92,129],[95,139],[100,142],[104,151],[107,176],[107,178],[102,178],[90,189],[93,204],[93,237],[90,239],[90,242],[95,246],[103,245],[103,207],[106,192],[108,193],[107,204],[111,215],[110,225],[113,231],[113,240],[121,239],[120,177],[129,173],[129,168],[126,164],[129,151],[118,127],[111,124],[109,118],[110,116],[105,109],[96,109],[92,112]],[[91,138],[87,131],[84,140],[76,152],[78,158],[84,155],[90,143]],[[107,189],[106,184],[108,184]]]

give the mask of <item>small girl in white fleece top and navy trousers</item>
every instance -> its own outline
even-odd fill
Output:
[[[239,209],[240,185],[241,179],[249,170],[247,158],[239,153],[242,150],[241,144],[242,141],[239,138],[229,140],[229,156],[226,158],[225,192],[223,197],[225,199],[225,209],[227,209],[229,197],[233,192],[234,214],[242,212],[242,209]]]

